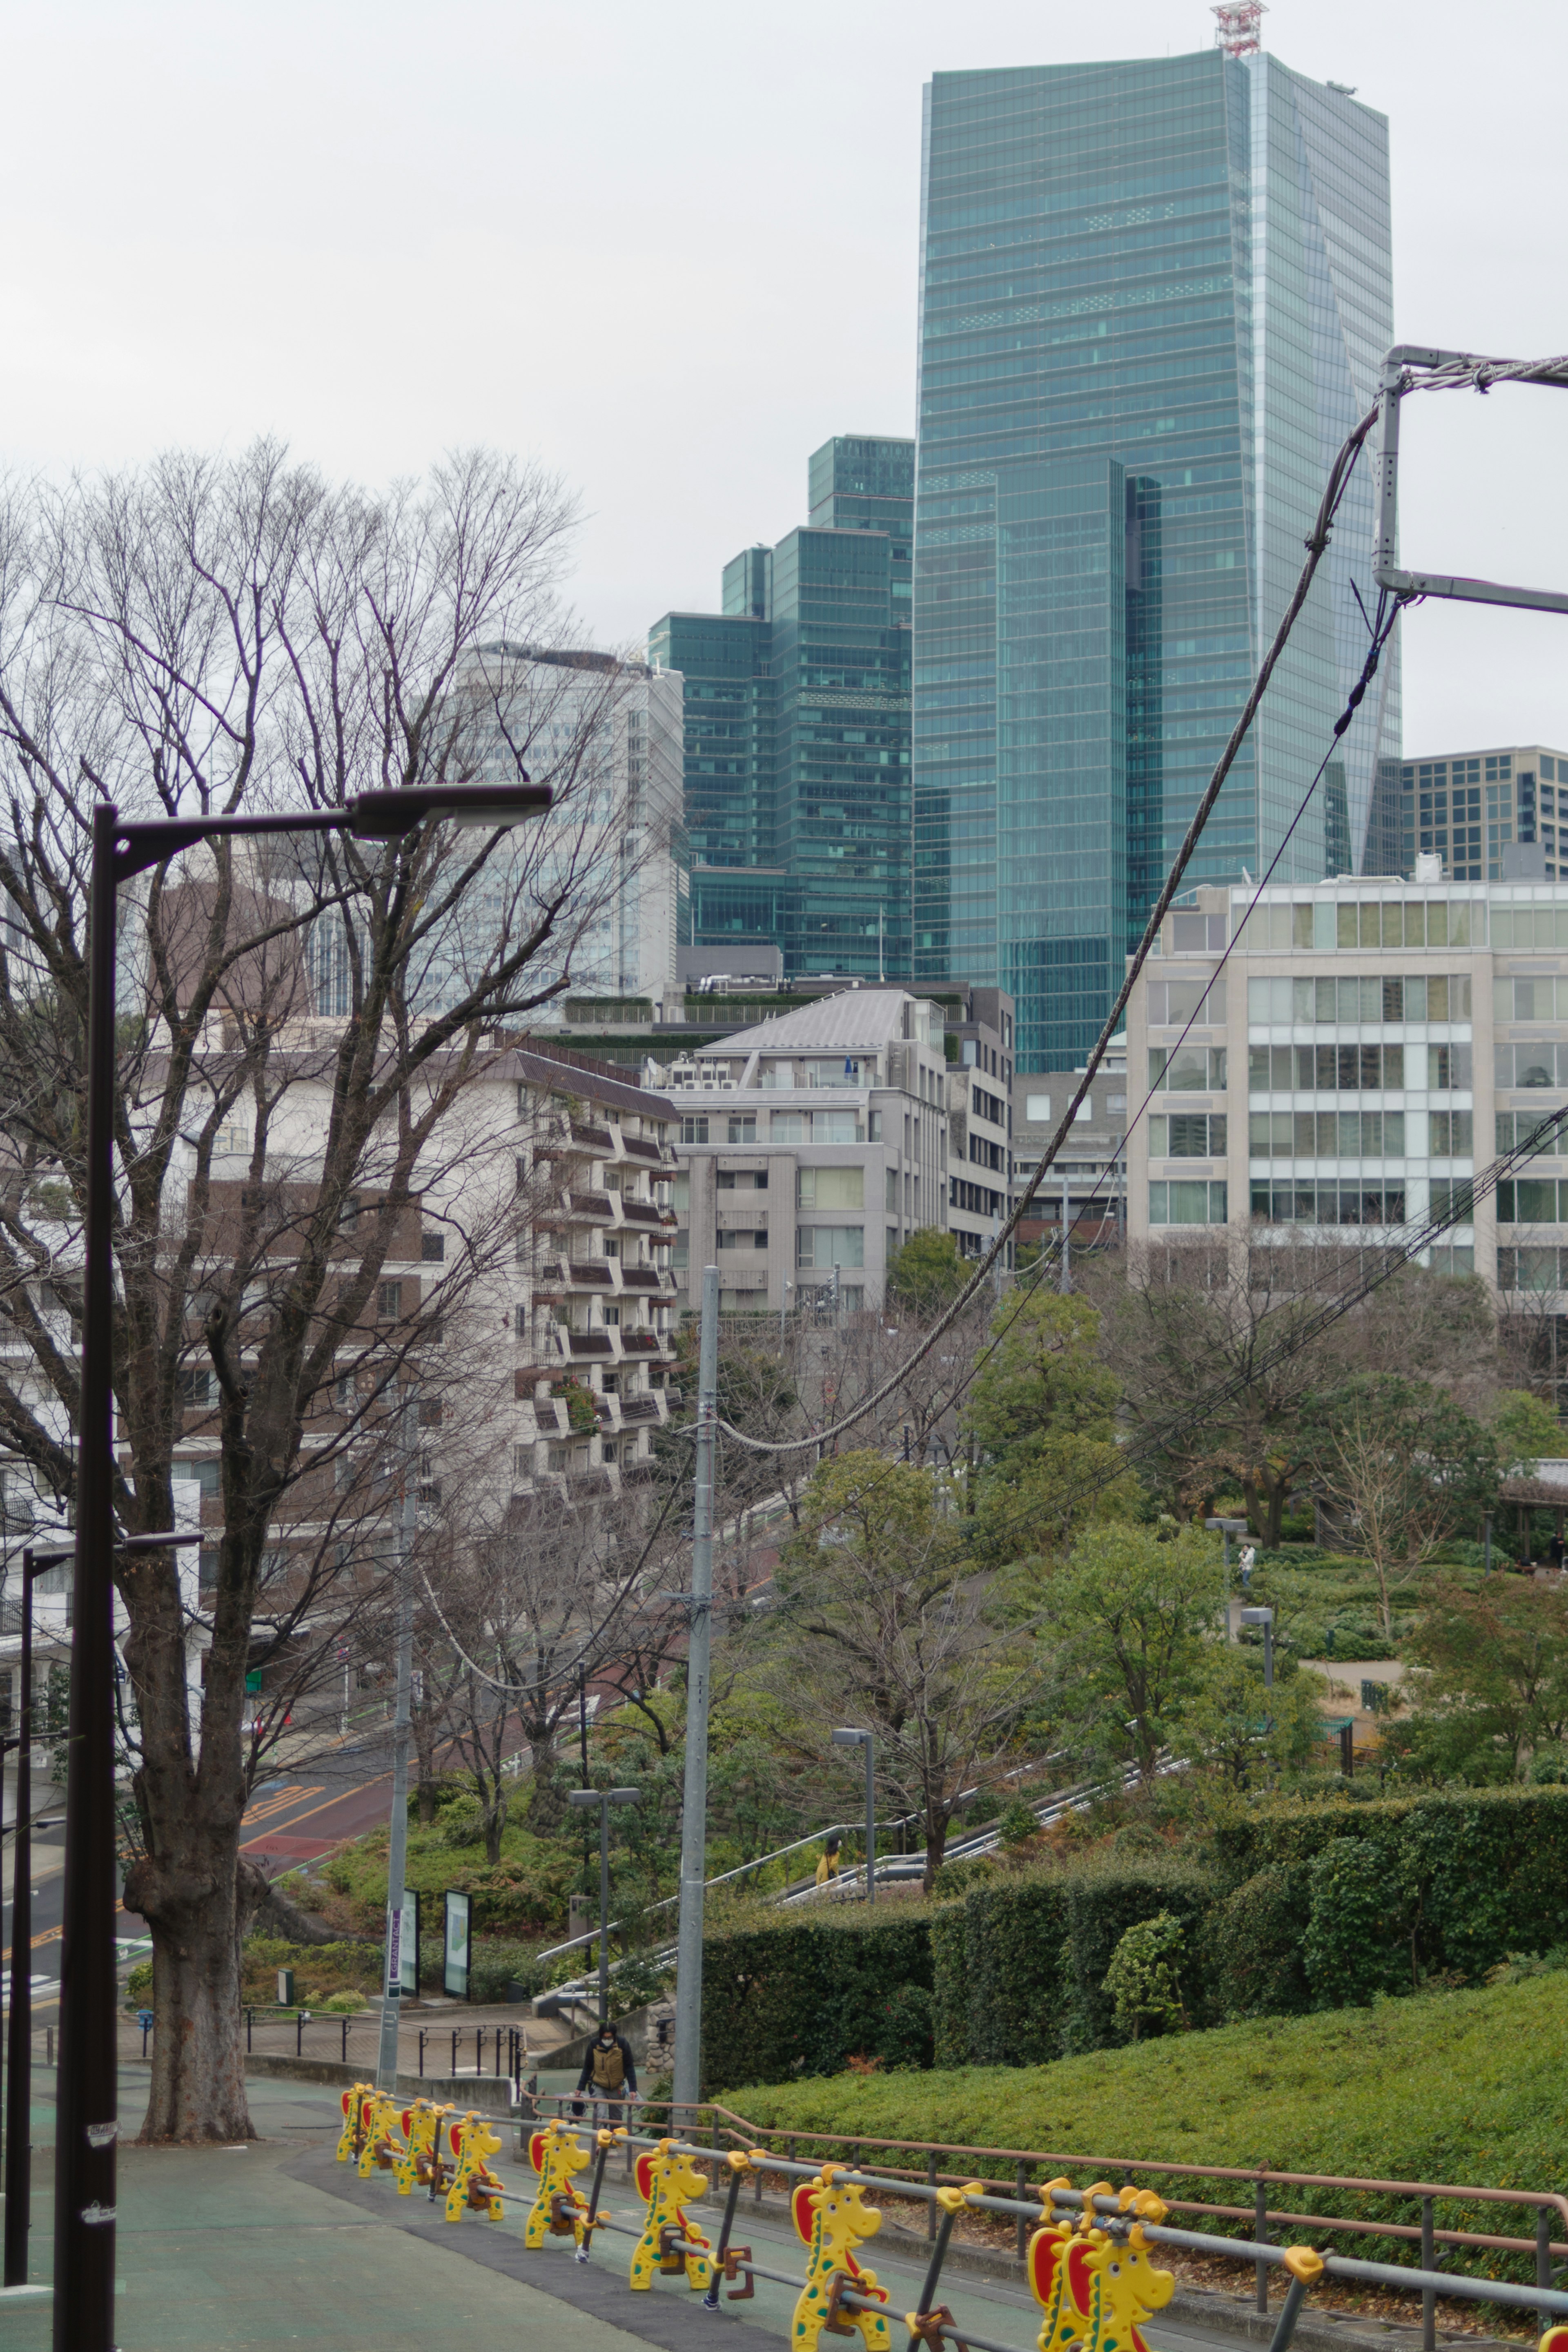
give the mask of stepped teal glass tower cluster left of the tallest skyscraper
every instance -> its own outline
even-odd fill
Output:
[[[686,682],[693,946],[907,981],[912,534],[914,442],[839,435],[809,520],[724,567],[724,609],[649,630]]]

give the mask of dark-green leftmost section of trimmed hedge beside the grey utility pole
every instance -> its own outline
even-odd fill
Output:
[[[931,1915],[842,1910],[703,1940],[703,2079],[837,2074],[865,2053],[931,2063]]]

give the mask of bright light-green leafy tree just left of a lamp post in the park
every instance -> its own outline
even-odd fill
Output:
[[[1053,1719],[1105,1764],[1154,1783],[1204,1689],[1225,1595],[1220,1545],[1194,1526],[1095,1526],[1037,1588]]]

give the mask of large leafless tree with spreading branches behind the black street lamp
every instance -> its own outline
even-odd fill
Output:
[[[172,1524],[188,1374],[219,1461],[195,1722],[174,1555],[118,1573],[141,1846],[125,1900],[155,1952],[146,2138],[249,2131],[237,1936],[261,1884],[237,1839],[256,1623],[277,1599],[268,1639],[292,1642],[353,1592],[367,1522],[381,1545],[378,1423],[444,1345],[442,1284],[463,1294],[484,1270],[458,1254],[425,1287],[402,1256],[411,1223],[454,1174],[494,1023],[567,985],[614,887],[614,670],[597,703],[574,682],[571,729],[550,734],[487,654],[562,635],[571,520],[559,482],[484,454],[369,496],[273,445],[0,496],[0,1289],[28,1348],[28,1376],[0,1381],[0,1439],[40,1491],[75,1482],[78,1359],[49,1305],[80,1312],[92,802],[339,809],[367,786],[524,764],[557,788],[531,835],[301,835],[259,861],[216,844],[120,906],[120,1526]]]

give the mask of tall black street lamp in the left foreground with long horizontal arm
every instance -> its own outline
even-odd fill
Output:
[[[350,833],[397,842],[425,818],[512,826],[543,816],[550,790],[430,783],[360,793],[341,809],[277,816],[122,818],[92,811],[87,898],[87,1216],[82,1268],[82,1418],[71,1630],[61,2058],[54,2157],[54,2352],[115,2340],[115,1621],[113,1621],[113,1204],[115,1204],[115,891],[195,842],[259,833]],[[172,1538],[132,1538],[165,1550]]]

